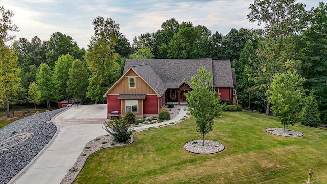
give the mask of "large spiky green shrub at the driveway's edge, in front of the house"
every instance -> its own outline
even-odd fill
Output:
[[[122,120],[113,120],[111,122],[105,122],[105,124],[108,126],[105,129],[109,134],[113,136],[113,139],[118,142],[126,142],[130,139],[133,132],[133,126],[127,121]]]

